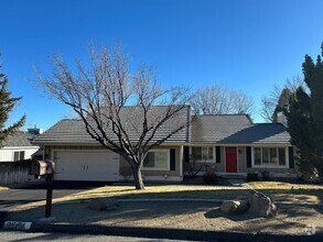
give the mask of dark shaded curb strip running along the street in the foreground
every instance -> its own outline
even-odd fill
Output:
[[[12,223],[13,221],[7,221]],[[6,223],[7,223],[6,222]],[[19,222],[15,222],[19,224]],[[20,222],[23,224],[23,222]],[[23,227],[24,228],[24,227]],[[19,227],[10,228],[19,230]],[[129,227],[107,227],[99,224],[54,224],[33,222],[26,232],[60,232],[74,234],[105,234],[137,237],[150,239],[170,239],[170,240],[191,240],[191,241],[323,241],[323,234],[314,235],[290,235],[290,234],[269,234],[269,233],[243,233],[225,231],[202,231],[186,229],[157,229],[157,228],[129,228]]]

